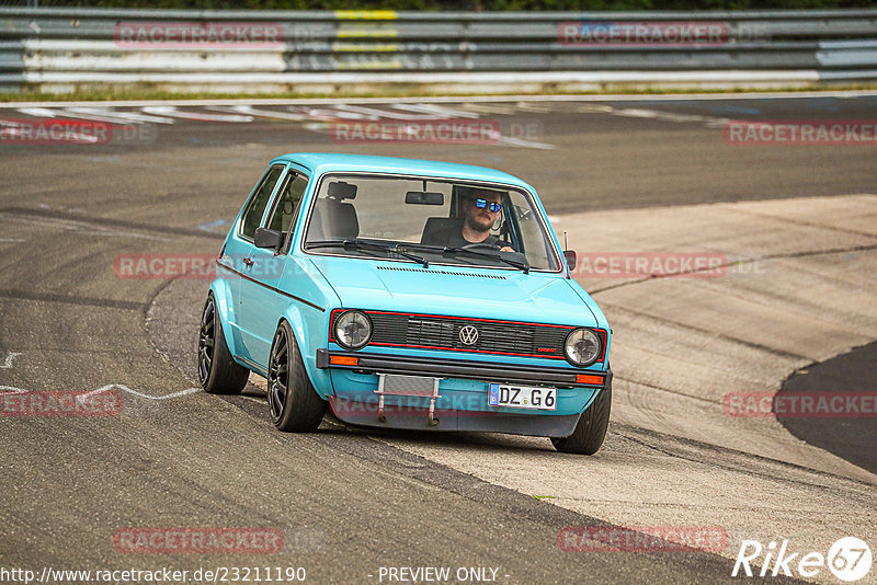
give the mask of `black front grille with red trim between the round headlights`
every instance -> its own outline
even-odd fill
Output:
[[[372,344],[438,347],[496,354],[563,357],[563,340],[572,326],[480,321],[455,317],[432,317],[368,311],[374,325]],[[478,330],[478,340],[467,345],[460,329]]]

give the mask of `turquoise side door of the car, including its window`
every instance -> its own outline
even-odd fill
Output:
[[[274,332],[286,303],[289,302],[289,298],[278,289],[284,272],[295,269],[294,265],[286,262],[286,246],[289,244],[291,230],[295,226],[307,184],[308,176],[304,172],[292,168],[288,170],[262,222],[262,227],[286,234],[284,248],[275,251],[251,245],[244,259],[247,265],[243,274],[248,278],[241,279],[242,295],[238,312],[248,325],[243,332],[243,344],[250,359],[262,369],[267,368]]]

